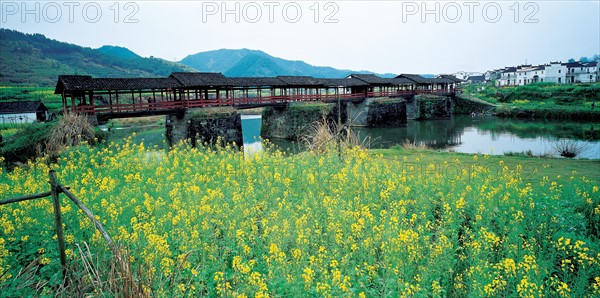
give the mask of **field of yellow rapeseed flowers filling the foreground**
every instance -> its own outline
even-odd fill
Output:
[[[55,169],[151,296],[600,296],[598,181],[532,181],[486,158],[434,165],[358,148],[247,158],[127,141],[3,169],[0,197],[47,191]],[[71,274],[86,295],[111,296],[91,274],[111,270],[108,246],[61,200],[69,262],[90,261]],[[49,198],[0,206],[2,295],[60,291],[53,220]]]

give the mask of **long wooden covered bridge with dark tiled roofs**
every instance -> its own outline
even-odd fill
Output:
[[[168,113],[206,106],[259,106],[295,101],[355,100],[451,91],[449,80],[418,75],[381,78],[352,74],[346,78],[310,76],[234,77],[210,72],[175,72],[166,78],[58,77],[55,94],[63,106],[107,118]]]

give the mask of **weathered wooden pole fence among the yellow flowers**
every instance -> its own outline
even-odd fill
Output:
[[[92,221],[92,223],[94,224],[96,229],[98,229],[104,240],[106,240],[106,243],[108,244],[112,252],[116,255],[117,250],[112,239],[110,238],[108,233],[106,233],[106,230],[104,229],[102,224],[94,217],[92,211],[90,211],[90,209],[88,209],[75,195],[73,195],[73,193],[69,191],[68,187],[63,186],[58,182],[58,179],[56,178],[56,172],[54,170],[51,170],[48,173],[48,176],[50,178],[50,180],[48,181],[48,183],[50,184],[50,191],[27,195],[19,198],[9,198],[0,200],[0,206],[10,203],[52,197],[52,204],[54,207],[54,221],[56,224],[56,236],[58,238],[58,251],[60,257],[60,264],[62,266],[63,278],[66,277],[67,274],[67,257],[65,255],[65,237],[62,230],[62,214],[60,211],[59,195],[61,193],[65,194],[69,199],[71,199],[71,201],[73,201],[73,203],[75,203],[75,205],[77,205],[77,207],[79,207],[79,209],[81,209],[81,211],[83,211],[83,213]]]

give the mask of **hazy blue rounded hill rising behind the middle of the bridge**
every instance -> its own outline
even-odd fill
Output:
[[[179,63],[199,71],[222,72],[230,77],[267,77],[278,75],[303,75],[319,78],[343,78],[351,73],[373,73],[365,70],[336,69],[313,66],[304,61],[273,57],[263,51],[249,49],[220,49],[200,52],[185,57]],[[377,74],[393,77],[394,74]]]

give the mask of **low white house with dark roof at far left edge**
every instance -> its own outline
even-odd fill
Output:
[[[41,101],[0,102],[0,124],[46,121],[48,116],[48,108]]]

